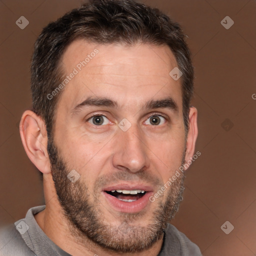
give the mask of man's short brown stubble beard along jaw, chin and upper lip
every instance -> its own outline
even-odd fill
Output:
[[[143,212],[120,213],[120,224],[112,225],[104,221],[104,214],[99,209],[100,201],[95,196],[94,191],[89,192],[86,184],[81,182],[81,178],[74,183],[67,178],[67,174],[71,169],[67,168],[52,139],[48,141],[48,153],[51,162],[52,179],[59,203],[63,208],[65,218],[68,220],[70,232],[79,243],[83,244],[88,238],[103,249],[113,252],[135,253],[151,248],[157,240],[162,238],[164,228],[174,217],[182,200],[184,190],[183,173],[180,173],[180,176],[170,185],[164,201],[160,197],[151,202],[154,203],[154,210],[149,224],[146,226],[132,225],[133,221],[136,221],[136,223],[138,223],[138,220],[143,221],[143,215],[147,213]],[[182,158],[181,163],[184,161],[184,154]],[[139,173],[141,176],[145,176],[143,171]],[[130,175],[135,174],[125,173],[124,171],[119,172],[119,174],[113,175],[109,179],[106,178],[105,182],[116,177],[125,176],[127,178]],[[98,186],[101,183],[101,181],[98,182]],[[159,188],[161,186],[158,185]],[[113,219],[116,219],[116,216],[113,216]]]

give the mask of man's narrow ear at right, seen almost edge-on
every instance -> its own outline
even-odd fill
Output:
[[[195,147],[195,141],[197,138],[197,109],[193,106],[189,109],[189,124],[188,124],[188,133],[186,139],[186,153],[185,153],[185,162],[192,159]],[[186,166],[186,164],[185,164]],[[189,165],[188,165],[189,166]],[[188,167],[185,167],[187,169]]]

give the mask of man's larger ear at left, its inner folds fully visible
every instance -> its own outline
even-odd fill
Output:
[[[47,132],[44,121],[31,110],[26,110],[19,123],[22,144],[31,162],[42,173],[50,173],[47,152]]]

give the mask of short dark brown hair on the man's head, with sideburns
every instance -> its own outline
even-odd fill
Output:
[[[63,79],[60,60],[63,51],[75,39],[101,44],[150,43],[168,45],[182,72],[184,126],[188,130],[189,104],[193,91],[193,68],[184,34],[176,22],[160,12],[132,0],[91,0],[49,23],[34,46],[31,63],[32,110],[52,135],[58,93],[47,99]]]

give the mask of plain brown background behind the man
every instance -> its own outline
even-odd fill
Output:
[[[41,28],[79,0],[0,1],[0,221],[43,204],[42,183],[22,147],[18,121],[30,107],[29,62]],[[190,166],[173,224],[205,256],[256,255],[256,2],[144,0],[178,21],[195,66],[201,156]],[[15,21],[25,16],[23,30]],[[230,16],[225,29],[220,21]],[[224,121],[225,119],[228,119]],[[233,124],[233,126],[232,126]],[[234,229],[225,234],[228,220]]]

